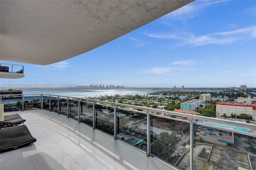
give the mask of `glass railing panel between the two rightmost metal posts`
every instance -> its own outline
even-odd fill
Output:
[[[150,130],[150,152],[154,156],[180,169],[190,168],[190,123],[151,116]]]

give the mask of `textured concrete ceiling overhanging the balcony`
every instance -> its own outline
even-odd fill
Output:
[[[48,65],[80,55],[194,0],[0,1],[0,60]]]

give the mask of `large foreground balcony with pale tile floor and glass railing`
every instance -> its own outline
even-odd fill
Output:
[[[93,99],[22,97],[0,100],[5,114],[21,111],[15,113],[37,141],[1,153],[1,170],[256,167],[256,154],[246,150],[256,146],[253,124]]]

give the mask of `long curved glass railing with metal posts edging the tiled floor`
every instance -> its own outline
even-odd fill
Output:
[[[12,95],[12,97],[15,95]],[[46,109],[122,140],[180,169],[253,170],[256,125],[148,107],[56,95],[22,95],[4,110]],[[20,95],[18,96],[20,97]],[[252,146],[252,147],[249,147]]]

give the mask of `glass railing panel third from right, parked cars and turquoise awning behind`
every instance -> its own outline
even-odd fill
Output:
[[[116,109],[117,138],[147,151],[147,115],[136,111]]]

